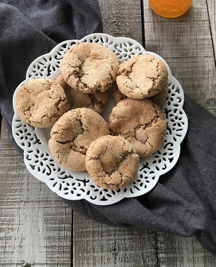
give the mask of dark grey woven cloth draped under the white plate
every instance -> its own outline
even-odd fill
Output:
[[[7,4],[6,4],[7,3]],[[25,79],[30,63],[56,43],[102,32],[101,14],[94,0],[0,3],[1,113],[12,144],[12,96]],[[104,224],[181,236],[195,235],[216,254],[216,117],[185,96],[188,132],[177,164],[160,176],[149,193],[99,206],[86,200],[64,201],[74,210]]]

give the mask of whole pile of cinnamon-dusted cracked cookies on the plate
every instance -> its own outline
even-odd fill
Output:
[[[55,81],[38,78],[21,86],[19,116],[35,127],[52,126],[49,149],[67,169],[87,170],[106,189],[126,186],[135,178],[139,157],[164,143],[166,121],[159,106],[168,92],[166,66],[148,54],[119,65],[105,46],[83,43],[66,52],[60,68]],[[106,123],[100,114],[111,84],[117,105]]]

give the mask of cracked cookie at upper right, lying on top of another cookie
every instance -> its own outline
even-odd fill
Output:
[[[116,83],[127,97],[142,99],[159,93],[167,83],[165,64],[153,55],[138,55],[119,65]]]

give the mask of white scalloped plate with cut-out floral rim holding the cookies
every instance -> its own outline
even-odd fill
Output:
[[[135,179],[126,187],[108,190],[99,187],[87,172],[72,172],[59,164],[48,148],[51,128],[33,128],[17,114],[15,105],[19,88],[32,78],[55,79],[60,72],[60,62],[66,51],[78,43],[99,43],[109,48],[119,63],[139,54],[152,54],[160,58],[168,69],[169,93],[161,107],[167,121],[167,136],[162,148],[147,158],[140,158],[140,168]],[[149,192],[157,183],[159,176],[168,172],[176,164],[180,144],[188,128],[187,116],[183,110],[184,92],[179,82],[172,76],[167,63],[157,54],[147,52],[130,38],[95,33],[81,40],[69,40],[58,44],[48,54],[35,59],[26,73],[26,80],[15,90],[13,96],[14,117],[12,132],[15,141],[23,149],[27,169],[37,179],[45,182],[60,197],[71,200],[86,199],[98,205],[108,205]],[[107,121],[115,102],[112,97],[106,106],[103,117]],[[31,181],[30,181],[31,182]]]

